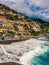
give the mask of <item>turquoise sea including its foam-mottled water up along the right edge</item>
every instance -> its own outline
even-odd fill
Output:
[[[39,45],[40,52],[36,52],[36,55],[29,59],[29,65],[49,65],[49,37],[42,38],[47,40],[44,44]]]

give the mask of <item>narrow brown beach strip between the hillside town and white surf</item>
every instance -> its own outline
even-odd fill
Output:
[[[29,39],[37,39],[37,40],[41,40],[41,41],[49,41],[49,39],[44,39],[46,38],[45,36],[42,37],[38,37],[38,36],[22,36],[19,38],[13,38],[13,39],[5,39],[5,40],[0,40],[0,44],[11,44],[13,42],[22,42],[22,41],[26,41]]]

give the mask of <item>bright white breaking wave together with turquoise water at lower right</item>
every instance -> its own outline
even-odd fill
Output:
[[[24,54],[20,60],[24,65],[49,65],[49,41],[44,41],[29,53]]]

